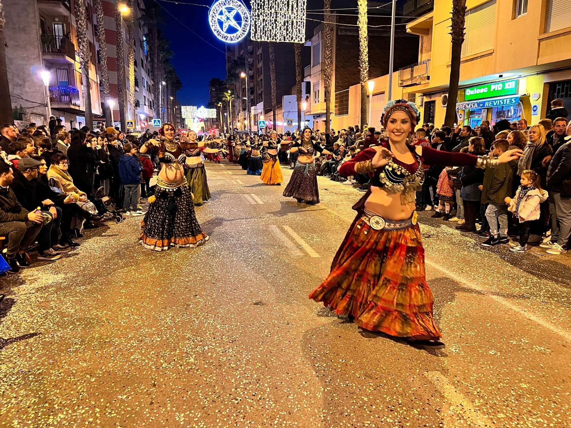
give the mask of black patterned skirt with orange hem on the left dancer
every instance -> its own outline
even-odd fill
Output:
[[[202,232],[190,195],[184,183],[174,189],[156,185],[155,200],[141,221],[143,229],[139,243],[144,248],[164,251],[170,247],[190,247],[203,244],[208,235]]]

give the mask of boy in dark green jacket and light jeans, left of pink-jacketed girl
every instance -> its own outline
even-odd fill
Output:
[[[508,151],[508,140],[496,140],[493,144],[493,155],[500,156]],[[486,168],[482,184],[482,204],[488,204],[486,219],[490,227],[490,237],[482,245],[509,244],[508,206],[504,199],[512,196],[513,169],[509,164],[499,164],[496,168]],[[498,232],[498,221],[500,231]]]

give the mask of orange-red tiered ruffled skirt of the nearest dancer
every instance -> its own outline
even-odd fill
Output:
[[[411,340],[438,340],[418,225],[377,231],[360,216],[311,294],[361,328]]]

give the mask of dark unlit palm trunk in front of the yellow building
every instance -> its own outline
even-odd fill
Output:
[[[444,124],[449,127],[456,122],[456,100],[458,99],[458,82],[460,80],[460,58],[462,43],[464,43],[464,23],[466,15],[466,0],[452,0],[452,56],[450,60],[450,83],[448,86],[448,104]]]

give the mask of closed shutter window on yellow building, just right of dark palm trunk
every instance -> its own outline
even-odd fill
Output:
[[[493,49],[496,40],[496,0],[467,11],[464,26],[463,57]]]

